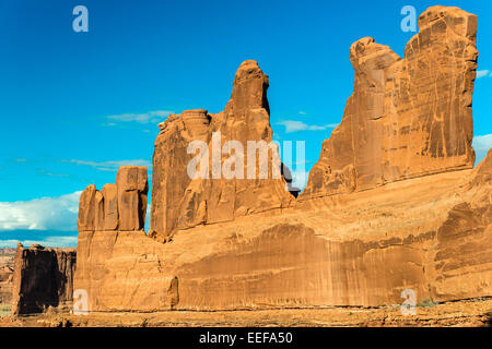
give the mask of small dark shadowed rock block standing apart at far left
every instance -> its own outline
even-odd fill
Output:
[[[72,302],[75,249],[17,245],[15,253],[12,314],[39,313],[67,308]]]

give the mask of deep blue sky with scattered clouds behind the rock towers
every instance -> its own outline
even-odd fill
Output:
[[[78,4],[89,33],[72,29]],[[0,0],[0,246],[74,245],[79,192],[114,182],[120,165],[150,165],[168,112],[223,110],[246,59],[270,76],[274,137],[306,141],[309,170],[352,93],[350,45],[372,36],[403,56],[414,33],[400,29],[401,8],[434,4],[479,16],[482,158],[492,144],[490,1]]]

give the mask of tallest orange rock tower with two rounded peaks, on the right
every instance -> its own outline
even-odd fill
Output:
[[[433,7],[419,27],[405,59],[373,38],[352,45],[353,94],[301,200],[473,166],[477,16]]]

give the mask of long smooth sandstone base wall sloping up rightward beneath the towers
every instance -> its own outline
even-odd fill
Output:
[[[165,244],[81,232],[75,287],[90,287],[90,311],[378,306],[401,304],[406,289],[419,303],[492,297],[492,182],[476,181],[491,161],[179,230]]]

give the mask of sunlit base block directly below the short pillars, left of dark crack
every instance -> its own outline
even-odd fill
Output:
[[[164,244],[143,231],[83,231],[75,289],[89,311],[163,311],[179,303],[179,279],[166,270]]]

